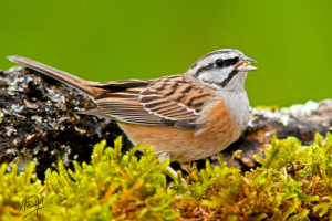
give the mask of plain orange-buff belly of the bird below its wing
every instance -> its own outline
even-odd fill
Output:
[[[198,129],[117,124],[134,145],[151,145],[155,156],[168,152],[172,161],[186,162],[212,156],[241,135],[243,128],[227,114],[222,103],[215,103],[206,114]]]

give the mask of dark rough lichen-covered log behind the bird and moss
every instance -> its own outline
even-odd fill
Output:
[[[74,114],[94,106],[81,92],[32,70],[0,71],[0,164],[15,162],[23,170],[30,161],[38,161],[37,175],[42,179],[48,168],[55,169],[58,159],[66,166],[74,159],[89,161],[93,145],[103,139],[112,146],[123,135],[126,151],[131,144],[115,122]],[[248,128],[222,154],[229,161],[241,149],[234,166],[248,169],[257,166],[253,155],[262,156],[273,135],[280,139],[294,136],[309,145],[314,133],[325,135],[331,126],[331,99],[273,112],[253,108]],[[218,164],[216,156],[208,160]]]

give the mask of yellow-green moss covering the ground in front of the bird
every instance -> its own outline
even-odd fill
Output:
[[[74,164],[58,172],[46,171],[42,186],[33,164],[17,175],[17,167],[0,169],[0,220],[21,220],[20,206],[30,196],[43,197],[44,208],[30,220],[332,220],[332,138],[317,135],[315,144],[302,146],[295,138],[272,140],[262,165],[242,175],[209,162],[198,171],[188,169],[189,186],[181,175],[166,182],[166,166],[151,147],[137,146],[121,154],[97,144],[91,164]],[[143,149],[137,160],[135,151]],[[237,152],[239,154],[239,152]]]

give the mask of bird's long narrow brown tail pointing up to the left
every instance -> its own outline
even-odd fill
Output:
[[[17,56],[17,55],[8,56],[8,59],[14,63],[22,64],[32,70],[39,71],[39,72],[41,72],[52,78],[55,78],[69,86],[73,86],[82,92],[85,92],[87,95],[90,95],[92,97],[95,97],[100,92],[98,88],[89,86],[89,85],[91,85],[90,82],[82,80],[80,77],[76,77],[74,75],[71,75],[66,72],[54,69],[52,66],[48,66],[48,65],[39,63],[37,61],[33,61],[33,60],[30,60],[27,57],[22,57],[22,56]]]

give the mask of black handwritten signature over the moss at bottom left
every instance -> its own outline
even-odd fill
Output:
[[[25,198],[20,204],[20,211],[24,215],[23,218],[28,217],[32,212],[38,215],[38,210],[42,208],[44,208],[43,197],[40,198],[37,194]]]

